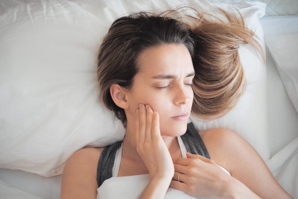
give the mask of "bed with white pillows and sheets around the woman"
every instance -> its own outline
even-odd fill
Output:
[[[249,84],[228,114],[190,121],[241,135],[298,198],[298,1],[262,2],[0,1],[0,198],[60,198],[73,152],[123,139],[121,122],[98,102],[101,39],[119,16],[182,3],[237,6],[266,50],[265,64],[241,48]]]

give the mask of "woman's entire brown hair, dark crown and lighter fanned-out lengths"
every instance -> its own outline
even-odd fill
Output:
[[[173,14],[179,14],[176,9],[159,15],[140,12],[121,17],[113,22],[103,38],[97,57],[100,99],[115,112],[125,128],[124,109],[114,103],[110,86],[119,84],[126,90],[131,89],[133,78],[139,72],[136,60],[142,50],[162,44],[184,44],[187,47],[195,70],[192,113],[203,119],[226,114],[246,90],[239,45],[251,44],[264,58],[260,44],[254,33],[245,27],[239,12],[228,13],[218,8],[227,19],[223,21],[198,13],[192,7],[187,8],[194,10],[195,16],[174,19]],[[185,22],[185,19],[193,23]]]

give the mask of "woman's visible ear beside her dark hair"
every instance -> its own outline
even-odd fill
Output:
[[[112,96],[113,101],[118,107],[121,107],[122,109],[127,109],[129,107],[128,101],[127,101],[127,95],[125,90],[119,84],[112,84],[110,86],[110,93]]]

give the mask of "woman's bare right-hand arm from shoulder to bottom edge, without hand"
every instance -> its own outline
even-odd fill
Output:
[[[255,149],[235,132],[212,129],[202,135],[202,139],[211,159],[235,178],[236,187],[241,183],[261,198],[292,198],[276,181]]]

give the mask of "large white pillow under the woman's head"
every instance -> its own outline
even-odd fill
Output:
[[[127,13],[166,10],[194,3],[204,10],[227,4],[208,1],[6,1],[0,7],[0,167],[43,176],[63,172],[84,146],[122,140],[125,129],[98,100],[96,55],[111,23]],[[266,4],[238,4],[257,27]],[[266,123],[266,68],[251,47],[241,47],[249,82],[246,94],[225,117],[199,129],[227,127],[270,158]],[[255,126],[255,127],[254,127]]]

